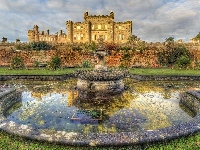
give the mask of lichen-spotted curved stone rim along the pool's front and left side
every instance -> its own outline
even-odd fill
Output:
[[[14,103],[20,102],[21,92],[15,89],[4,89],[0,96],[0,129],[8,133],[16,134],[26,138],[57,142],[67,145],[89,145],[89,146],[122,146],[122,145],[135,145],[145,144],[149,142],[163,141],[174,139],[181,136],[186,136],[200,130],[200,113],[197,112],[196,116],[190,122],[173,125],[171,127],[162,128],[158,130],[143,130],[136,132],[121,132],[121,133],[90,133],[82,134],[77,132],[66,131],[48,131],[38,128],[33,128],[26,124],[18,124],[8,120],[4,116],[4,112]],[[195,91],[193,91],[195,92]],[[199,92],[199,91],[198,91]],[[197,92],[197,93],[198,93]],[[192,92],[185,92],[190,95]],[[199,95],[194,95],[198,96]],[[181,98],[184,98],[182,96]],[[195,103],[199,106],[199,103]]]

